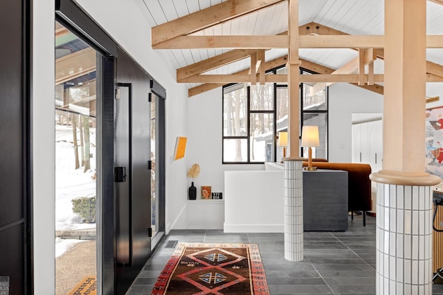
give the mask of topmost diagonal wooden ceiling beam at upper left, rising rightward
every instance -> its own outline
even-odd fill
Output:
[[[175,37],[188,35],[247,13],[275,5],[284,0],[228,0],[190,15],[162,23],[151,29],[152,46]]]

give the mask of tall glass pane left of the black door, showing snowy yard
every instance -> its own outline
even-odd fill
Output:
[[[55,280],[56,294],[96,283],[97,58],[55,23]]]

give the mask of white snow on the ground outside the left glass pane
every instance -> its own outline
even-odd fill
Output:
[[[91,169],[84,172],[84,167],[75,169],[72,126],[55,126],[55,230],[95,228],[95,223],[82,223],[82,218],[72,211],[73,198],[96,196],[96,180],[91,176],[96,169],[96,130],[90,129]],[[77,135],[79,160],[80,133]],[[60,256],[81,240],[55,241],[56,256]]]

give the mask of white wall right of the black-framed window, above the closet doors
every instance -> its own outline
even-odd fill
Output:
[[[329,162],[352,162],[352,113],[383,113],[383,95],[347,83],[329,86]]]

